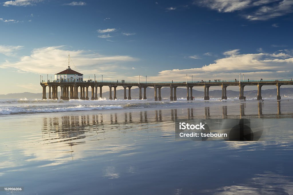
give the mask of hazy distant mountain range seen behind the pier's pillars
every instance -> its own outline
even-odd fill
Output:
[[[128,90],[126,90],[126,94],[128,97]],[[280,89],[281,97],[293,97],[293,88],[281,88]],[[60,98],[60,92],[58,93],[58,97]],[[88,92],[89,98],[91,98],[91,92]],[[266,89],[261,91],[261,95],[263,98],[276,98],[277,96],[277,89]],[[98,94],[98,97],[100,94]],[[109,92],[104,92],[102,94],[103,97],[109,98]],[[142,96],[143,96],[143,90],[142,90]],[[186,89],[185,88],[177,88],[177,98],[186,98]],[[204,92],[197,91],[193,89],[193,96],[195,98],[203,98]],[[244,91],[244,96],[246,98],[256,98],[257,97],[257,90],[252,91]],[[47,98],[49,97],[47,93]],[[80,97],[80,96],[79,96]],[[112,97],[114,97],[114,91],[112,91]],[[161,89],[161,97],[162,98],[170,98],[170,88],[165,87]],[[210,98],[221,98],[222,97],[222,90],[213,90],[209,91],[209,97]],[[233,97],[239,97],[239,92],[227,90],[227,97],[233,98]],[[131,89],[131,98],[132,99],[139,99],[139,89]],[[147,88],[147,98],[148,99],[154,99],[154,89],[153,88]],[[0,94],[0,99],[42,99],[42,93],[30,93],[30,92],[24,92],[24,93],[13,93],[13,94]],[[124,92],[123,89],[117,90],[117,99],[124,99]]]

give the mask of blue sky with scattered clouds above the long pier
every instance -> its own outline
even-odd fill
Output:
[[[290,79],[292,12],[289,0],[3,1],[0,75],[15,82],[0,93],[41,92],[68,53],[98,80]]]

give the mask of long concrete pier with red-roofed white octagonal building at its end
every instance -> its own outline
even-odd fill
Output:
[[[60,99],[69,100],[69,99],[83,99],[89,100],[88,88],[91,87],[91,100],[98,99],[98,89],[99,89],[99,98],[102,98],[102,87],[108,86],[109,99],[116,98],[116,88],[121,86],[124,88],[124,99],[131,99],[131,88],[139,87],[139,99],[147,99],[146,89],[147,87],[154,88],[154,99],[155,101],[161,101],[161,88],[170,87],[170,100],[176,101],[176,88],[177,87],[186,87],[187,89],[187,100],[193,100],[192,88],[202,86],[204,87],[204,99],[209,100],[209,87],[212,86],[221,86],[222,87],[222,99],[227,99],[226,89],[229,86],[239,86],[239,99],[245,99],[244,96],[244,87],[256,85],[258,89],[257,99],[261,100],[261,87],[263,85],[275,85],[277,87],[277,100],[281,99],[280,96],[280,86],[281,85],[293,85],[292,80],[250,80],[250,81],[222,81],[222,82],[115,82],[115,81],[103,81],[98,82],[96,80],[84,81],[83,74],[72,70],[68,65],[66,70],[61,71],[60,73],[55,74],[54,81],[42,81],[40,85],[43,88],[43,97],[42,99],[47,99],[46,97],[46,88],[49,88],[49,99],[58,99],[58,87],[61,90]],[[114,96],[112,97],[112,87],[114,88]],[[126,94],[126,89],[128,88],[128,97]],[[142,88],[144,89],[144,96],[142,97]],[[80,97],[78,97],[80,92]]]

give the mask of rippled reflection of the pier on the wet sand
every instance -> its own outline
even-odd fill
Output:
[[[50,143],[67,141],[69,145],[79,144],[74,140],[83,139],[87,133],[99,134],[105,131],[117,131],[127,129],[147,129],[152,123],[170,122],[177,119],[209,119],[209,118],[292,118],[293,113],[281,113],[281,102],[277,101],[276,113],[264,113],[263,102],[258,102],[258,113],[245,113],[246,103],[239,104],[239,114],[229,115],[229,106],[222,106],[222,115],[211,115],[219,113],[214,108],[186,108],[186,109],[163,109],[153,111],[138,111],[125,113],[106,113],[80,116],[63,116],[43,119],[43,139]],[[216,108],[215,108],[216,109]],[[220,107],[221,109],[221,107]],[[248,109],[249,112],[249,109]],[[179,114],[180,113],[180,114]],[[170,124],[170,130],[172,129]],[[52,135],[52,136],[51,136]],[[58,138],[56,138],[56,135]]]

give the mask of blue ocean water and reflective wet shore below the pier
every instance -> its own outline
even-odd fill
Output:
[[[293,100],[0,100],[0,194],[293,194]],[[262,141],[175,137],[262,120]]]

